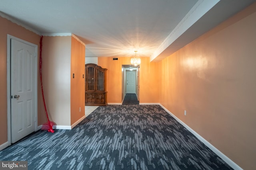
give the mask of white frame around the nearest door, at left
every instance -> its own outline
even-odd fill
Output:
[[[20,41],[22,43],[31,45],[33,47],[36,48],[36,62],[35,62],[35,131],[38,130],[38,120],[37,120],[37,116],[38,116],[38,110],[37,110],[37,81],[38,81],[38,75],[37,75],[37,71],[38,71],[38,46],[36,44],[32,44],[28,41],[25,41],[23,39],[19,39],[17,37],[14,37],[12,35],[7,34],[7,51],[6,51],[6,68],[7,68],[7,139],[8,139],[8,146],[10,146],[12,144],[11,142],[11,39],[15,39],[17,41]]]

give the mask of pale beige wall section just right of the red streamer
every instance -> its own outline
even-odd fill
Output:
[[[71,36],[43,37],[42,81],[47,111],[57,125],[70,126]]]

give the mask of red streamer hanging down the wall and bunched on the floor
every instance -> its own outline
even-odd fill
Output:
[[[40,68],[40,82],[41,82],[41,90],[42,90],[42,96],[43,96],[43,101],[44,101],[44,110],[46,113],[46,117],[47,117],[47,122],[44,123],[44,125],[42,125],[42,130],[46,130],[48,132],[54,133],[54,130],[52,129],[52,126],[55,125],[54,122],[50,121],[49,116],[48,116],[48,112],[46,109],[46,104],[45,104],[45,100],[44,100],[44,90],[43,90],[43,83],[42,83],[42,39],[43,36],[41,36],[40,38],[40,59],[39,59],[39,68]]]

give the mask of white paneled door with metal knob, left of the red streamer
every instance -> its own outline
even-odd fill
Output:
[[[37,46],[11,39],[11,142],[35,131]]]

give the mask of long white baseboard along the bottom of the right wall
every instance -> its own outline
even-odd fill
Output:
[[[178,117],[176,117],[174,114],[172,114],[168,109],[166,109],[164,106],[159,104],[165,111],[167,111],[174,119],[176,119],[180,124],[182,124],[188,131],[190,131],[193,135],[195,135],[202,143],[204,143],[210,150],[212,150],[214,153],[216,153],[222,160],[224,160],[229,166],[234,168],[235,170],[243,170],[238,164],[233,162],[228,156],[224,155],[220,150],[218,150],[216,147],[214,147],[212,144],[210,144],[208,141],[206,141],[202,136],[200,136],[196,131],[191,129],[188,125],[186,125],[183,121],[181,121]]]

